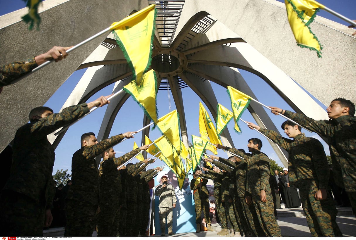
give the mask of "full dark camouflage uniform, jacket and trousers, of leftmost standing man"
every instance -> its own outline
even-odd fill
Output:
[[[17,130],[10,177],[0,200],[4,236],[42,236],[45,211],[54,197],[54,149],[47,135],[88,112],[86,103],[74,105]]]

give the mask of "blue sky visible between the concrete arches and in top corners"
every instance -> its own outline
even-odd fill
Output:
[[[356,5],[355,0],[344,0],[344,1],[319,0],[319,2],[348,18],[351,19],[355,18],[355,13],[354,13],[355,5]],[[0,0],[0,15],[4,15],[6,13],[16,11],[23,7],[25,7],[25,2],[23,2],[22,0],[12,0],[12,1]],[[334,17],[333,15],[325,11],[320,11],[318,15],[333,20],[335,22],[348,25],[344,21]],[[42,21],[45,21],[45,19],[42,19]],[[75,44],[76,43],[73,43],[73,45]],[[70,61],[70,55],[66,59],[66,61]],[[45,106],[51,107],[55,112],[58,112],[61,109],[64,102],[66,101],[66,99],[68,98],[72,89],[74,89],[74,87],[78,83],[80,77],[82,77],[82,75],[84,74],[84,72],[85,69],[75,71],[68,78],[68,80],[63,83],[63,85],[57,90],[57,92],[53,94],[53,96],[48,100]],[[286,102],[284,102],[284,100],[281,97],[279,97],[278,94],[274,92],[274,90],[271,87],[269,87],[268,84],[265,83],[260,77],[244,70],[240,70],[240,72],[242,76],[244,76],[247,83],[250,85],[251,89],[255,92],[255,95],[260,102],[266,105],[278,106],[283,109],[291,109],[286,104]],[[213,82],[211,84],[215,91],[218,102],[224,105],[225,107],[231,109],[230,101],[226,93],[226,89]],[[98,98],[101,95],[105,96],[110,94],[112,92],[112,88],[113,88],[113,84],[105,87],[101,91],[94,94],[94,96],[91,97],[88,102]],[[199,99],[197,94],[195,94],[189,87],[182,89],[182,95],[184,99],[183,103],[184,103],[184,109],[186,113],[185,117],[187,122],[188,136],[190,135],[199,136],[198,117],[199,117],[199,101],[201,101],[201,99]],[[171,100],[170,101],[171,105],[169,105],[169,99]],[[321,105],[323,106],[323,108],[326,108],[323,104]],[[204,107],[206,108],[205,105]],[[74,126],[70,127],[70,129],[67,131],[66,135],[63,137],[61,143],[56,149],[56,161],[54,163],[54,168],[53,168],[54,173],[56,172],[57,169],[69,169],[70,171],[72,155],[75,151],[77,151],[80,148],[80,136],[84,132],[95,132],[96,134],[99,132],[102,116],[105,113],[105,109],[106,107],[95,110],[92,114],[85,117],[85,119],[81,120],[80,122],[77,122]],[[176,106],[174,105],[173,97],[170,93],[168,93],[168,91],[158,92],[157,109],[158,109],[159,116],[163,116],[167,114],[169,111],[176,109]],[[206,110],[208,110],[208,108],[206,108]],[[271,116],[272,121],[275,123],[277,127],[281,126],[282,122],[284,121],[283,118],[271,114],[270,111],[268,110],[267,113]],[[242,115],[242,119],[246,121],[255,122],[248,111],[245,111],[245,113]],[[127,100],[127,102],[124,104],[124,106],[120,109],[119,113],[117,114],[110,136],[126,131],[135,131],[141,129],[142,120],[143,120],[142,109],[130,97]],[[283,166],[280,160],[278,159],[276,153],[273,151],[272,147],[269,145],[269,143],[265,140],[265,138],[262,135],[248,129],[247,126],[242,122],[239,122],[239,125],[242,130],[241,135],[237,135],[237,133],[235,133],[235,131],[233,130],[234,128],[233,122],[230,122],[228,125],[228,129],[230,130],[230,134],[234,141],[235,147],[244,148],[247,150],[246,145],[247,145],[247,140],[249,138],[252,137],[261,138],[262,142],[264,143],[261,150],[265,152],[269,156],[269,158],[276,160],[280,166]],[[306,132],[306,135],[310,137],[319,138],[315,133]],[[158,132],[158,130],[153,130],[150,133],[151,140],[154,140],[159,136],[160,133]],[[126,140],[123,143],[116,145],[114,147],[114,150],[116,151],[116,156],[121,156],[122,154],[131,151],[134,140],[137,143],[140,142],[141,134],[137,134],[133,140]],[[326,153],[329,154],[329,149],[327,145],[324,142],[323,144]],[[226,157],[226,153],[219,151],[219,156]],[[136,162],[137,160],[134,161]],[[159,161],[158,163],[153,164],[153,166],[156,165],[163,165],[163,163]]]

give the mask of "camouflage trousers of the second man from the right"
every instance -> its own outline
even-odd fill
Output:
[[[316,186],[312,189],[299,188],[302,207],[307,218],[312,236],[342,236],[336,223],[337,209],[329,193],[325,200],[315,200],[314,195],[318,191]]]

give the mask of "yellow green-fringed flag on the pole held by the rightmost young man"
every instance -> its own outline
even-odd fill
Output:
[[[235,120],[235,130],[238,134],[240,134],[241,130],[237,122],[239,122],[242,113],[244,113],[245,109],[250,104],[251,97],[231,86],[227,86],[227,93],[229,94],[231,100],[232,114],[234,114]],[[237,129],[239,129],[240,131],[238,131]]]

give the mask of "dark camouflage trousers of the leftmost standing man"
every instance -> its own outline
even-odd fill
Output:
[[[2,236],[43,236],[45,206],[21,193],[4,190],[0,198]]]

